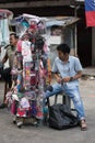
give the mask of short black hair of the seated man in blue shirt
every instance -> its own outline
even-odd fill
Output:
[[[64,43],[58,45],[57,51],[61,51],[63,54],[66,53],[70,54],[70,47],[68,44],[64,44]]]

